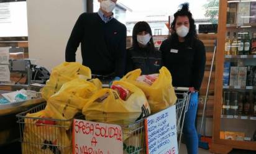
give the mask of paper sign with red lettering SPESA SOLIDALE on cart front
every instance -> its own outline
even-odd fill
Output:
[[[74,119],[73,154],[120,154],[122,148],[119,125]]]

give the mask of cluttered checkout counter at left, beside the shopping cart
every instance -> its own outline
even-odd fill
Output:
[[[8,61],[0,63],[0,151],[9,149],[12,153],[17,148],[19,153],[21,135],[16,115],[45,102],[39,92],[50,73],[30,60]]]

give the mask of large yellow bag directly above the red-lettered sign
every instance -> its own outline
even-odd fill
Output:
[[[128,89],[131,93],[130,96],[123,101],[117,91],[113,89],[99,90],[83,107],[86,120],[129,125],[138,119],[149,116],[150,107],[143,91],[124,81],[114,81],[113,84]]]

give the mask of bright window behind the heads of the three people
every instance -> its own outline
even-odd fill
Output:
[[[173,14],[178,11],[180,4],[190,3],[196,27],[199,24],[217,24],[219,14],[219,0],[118,0],[114,17],[127,27],[127,35],[132,35],[132,29],[138,21],[149,23],[153,35],[168,35],[168,19],[173,20]],[[94,0],[94,12],[99,10],[98,0]]]

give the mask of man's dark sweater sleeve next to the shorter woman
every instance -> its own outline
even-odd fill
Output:
[[[122,78],[126,70],[126,26],[122,29],[121,40],[117,47],[115,58],[115,75]]]

